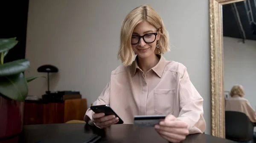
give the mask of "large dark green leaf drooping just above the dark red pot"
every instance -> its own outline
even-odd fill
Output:
[[[0,93],[16,101],[24,101],[28,86],[23,73],[0,77]]]

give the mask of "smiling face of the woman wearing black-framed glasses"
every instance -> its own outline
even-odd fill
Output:
[[[157,28],[146,21],[139,23],[133,31],[131,45],[140,58],[147,58],[154,53],[160,35]],[[144,37],[143,37],[144,36]]]

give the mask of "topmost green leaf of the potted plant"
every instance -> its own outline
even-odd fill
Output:
[[[18,41],[16,40],[16,37],[0,39],[0,53],[12,49],[15,45],[17,45],[17,43]]]

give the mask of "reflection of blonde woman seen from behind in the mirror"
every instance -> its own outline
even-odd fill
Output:
[[[256,123],[255,110],[250,106],[250,103],[244,97],[244,87],[234,85],[230,91],[231,98],[226,99],[225,110],[243,112],[252,123]]]

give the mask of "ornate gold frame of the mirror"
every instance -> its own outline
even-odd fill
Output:
[[[209,0],[211,49],[211,134],[225,138],[222,5],[245,0]]]

